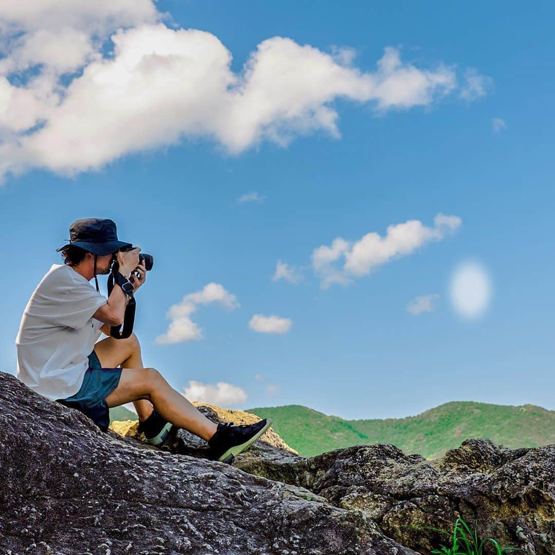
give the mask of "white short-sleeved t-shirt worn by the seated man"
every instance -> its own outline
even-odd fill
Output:
[[[52,264],[19,324],[19,380],[51,401],[77,393],[102,333],[93,314],[107,302],[87,278],[66,264]]]

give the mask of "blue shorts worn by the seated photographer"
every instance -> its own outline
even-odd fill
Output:
[[[121,368],[102,368],[93,349],[80,390],[71,397],[56,401],[67,407],[77,408],[105,432],[110,425],[110,413],[104,399],[118,387],[121,375]]]

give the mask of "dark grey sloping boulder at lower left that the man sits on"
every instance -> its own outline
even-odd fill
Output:
[[[265,450],[274,453],[271,465],[299,464],[285,444],[266,443],[241,460],[254,465],[266,460]],[[77,410],[0,372],[0,553],[415,552],[383,534],[365,511],[198,451],[172,453],[103,433]]]

